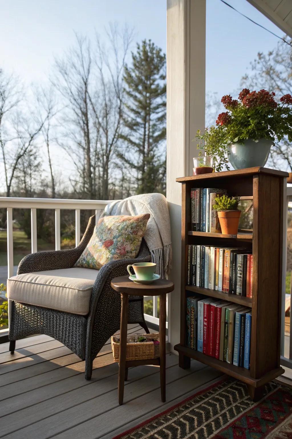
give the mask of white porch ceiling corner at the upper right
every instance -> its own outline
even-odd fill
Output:
[[[292,38],[292,0],[247,0]]]

